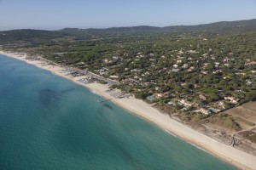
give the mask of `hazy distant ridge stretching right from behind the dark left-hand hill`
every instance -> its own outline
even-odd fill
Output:
[[[197,26],[133,26],[133,27],[113,27],[106,29],[78,29],[64,28],[61,32],[70,34],[87,34],[87,33],[154,33],[154,32],[201,32],[209,31],[212,33],[228,33],[241,31],[256,31],[256,19],[253,20],[238,20],[238,21],[222,21],[212,24],[204,24]]]

